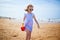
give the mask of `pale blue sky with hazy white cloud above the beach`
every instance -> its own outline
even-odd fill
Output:
[[[38,20],[60,19],[60,0],[0,0],[0,16],[21,19],[28,4]]]

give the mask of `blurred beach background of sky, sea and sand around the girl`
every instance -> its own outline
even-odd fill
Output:
[[[0,0],[0,40],[26,39],[21,25],[28,4],[40,25],[34,22],[31,40],[60,40],[60,0]]]

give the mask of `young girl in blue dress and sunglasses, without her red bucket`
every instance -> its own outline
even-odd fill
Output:
[[[33,11],[33,5],[29,4],[27,6],[27,9],[25,10],[27,13],[24,16],[24,25],[25,25],[25,31],[26,31],[26,40],[30,40],[31,38],[31,32],[32,32],[32,26],[33,26],[33,19],[37,23],[37,27],[39,28],[39,24],[35,18],[35,15],[32,13]]]

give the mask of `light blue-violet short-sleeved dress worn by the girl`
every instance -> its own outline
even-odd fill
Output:
[[[33,26],[33,13],[27,13],[25,14],[26,18],[24,21],[25,29],[28,29],[29,31],[32,31]]]

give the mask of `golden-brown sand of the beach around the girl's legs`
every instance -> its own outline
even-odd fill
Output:
[[[26,33],[21,31],[21,22],[0,19],[0,40],[25,40]],[[60,23],[34,24],[31,40],[60,40]]]

